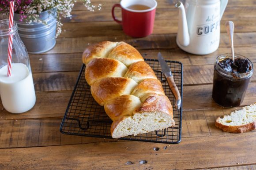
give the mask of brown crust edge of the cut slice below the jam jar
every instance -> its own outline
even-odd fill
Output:
[[[244,133],[244,132],[248,132],[250,130],[256,129],[256,120],[254,120],[254,122],[252,123],[248,123],[241,126],[226,126],[226,125],[223,125],[222,123],[218,123],[219,119],[221,118],[218,117],[216,119],[215,126],[222,129],[224,132],[240,134],[240,133]]]

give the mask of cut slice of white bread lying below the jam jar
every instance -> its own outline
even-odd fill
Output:
[[[215,126],[231,133],[243,133],[256,129],[256,103],[231,112],[223,118],[218,117]]]

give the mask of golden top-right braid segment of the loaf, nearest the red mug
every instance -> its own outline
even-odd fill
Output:
[[[144,61],[143,57],[128,43],[120,42],[110,53],[108,58],[116,59],[129,66],[137,61]]]

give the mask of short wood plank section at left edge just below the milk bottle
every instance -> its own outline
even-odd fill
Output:
[[[2,118],[2,116],[0,116]],[[0,123],[0,148],[17,147],[21,120],[4,120]]]

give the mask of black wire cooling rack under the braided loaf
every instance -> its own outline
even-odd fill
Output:
[[[166,61],[172,70],[173,79],[181,93],[181,109],[176,110],[176,100],[162,73],[158,60],[145,59],[145,61],[154,70],[158,80],[162,83],[166,96],[172,103],[175,127],[149,132],[147,134],[131,135],[120,139],[177,144],[181,141],[182,63],[178,61]],[[84,69],[85,65],[82,66],[79,73],[78,80],[68,103],[68,108],[60,125],[60,132],[80,136],[112,138],[110,134],[112,120],[105,113],[104,107],[94,101],[90,93],[90,86],[84,78]]]

